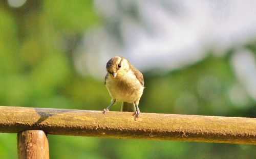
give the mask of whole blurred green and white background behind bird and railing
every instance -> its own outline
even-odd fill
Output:
[[[0,105],[103,110],[105,63],[121,55],[144,74],[141,112],[256,117],[255,6],[3,0]],[[49,146],[51,158],[256,158],[238,144],[49,135]],[[17,158],[16,134],[0,134],[0,158]]]

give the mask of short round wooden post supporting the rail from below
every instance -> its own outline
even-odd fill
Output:
[[[48,138],[42,130],[27,130],[18,133],[19,159],[49,159]]]

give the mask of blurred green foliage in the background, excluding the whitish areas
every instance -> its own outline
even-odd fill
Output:
[[[73,50],[102,19],[92,1],[0,2],[0,104],[102,110],[110,96],[102,81],[74,69]],[[67,43],[69,45],[67,45]],[[248,45],[255,51],[256,45]],[[256,103],[237,107],[240,85],[229,56],[208,56],[164,74],[144,72],[142,112],[255,117]],[[210,83],[210,85],[209,85]],[[120,103],[112,109],[120,110]],[[256,158],[255,146],[49,135],[51,158]],[[17,158],[16,134],[0,134],[0,158]]]

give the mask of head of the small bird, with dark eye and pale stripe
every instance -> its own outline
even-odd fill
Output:
[[[129,71],[129,61],[123,57],[116,56],[106,63],[106,71],[114,78]]]

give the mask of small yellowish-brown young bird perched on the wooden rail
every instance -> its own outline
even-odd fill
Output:
[[[103,110],[105,114],[116,101],[122,101],[123,105],[135,104],[134,115],[140,115],[139,100],[144,90],[144,79],[142,73],[136,69],[128,60],[116,56],[106,63],[105,86],[112,97],[109,107]],[[130,104],[130,105],[131,105]]]

